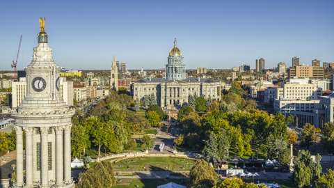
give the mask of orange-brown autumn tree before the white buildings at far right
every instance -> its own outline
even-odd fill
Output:
[[[301,146],[310,148],[312,144],[319,142],[319,136],[317,135],[317,129],[310,123],[305,123],[301,132]]]

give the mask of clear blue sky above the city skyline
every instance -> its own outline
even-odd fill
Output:
[[[334,62],[334,1],[0,1],[0,70],[29,65],[45,31],[57,65],[160,69],[177,38],[186,68],[227,69],[264,58],[265,67],[292,57]]]

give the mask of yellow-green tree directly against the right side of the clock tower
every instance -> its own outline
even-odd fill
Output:
[[[85,148],[90,147],[89,136],[86,133],[86,127],[74,125],[71,130],[71,148],[73,156],[80,156]]]

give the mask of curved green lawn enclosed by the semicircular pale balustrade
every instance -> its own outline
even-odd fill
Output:
[[[114,171],[190,171],[194,164],[194,160],[177,157],[138,157],[121,160],[113,167]]]

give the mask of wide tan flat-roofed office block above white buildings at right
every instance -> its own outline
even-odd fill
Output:
[[[323,79],[324,68],[310,65],[299,65],[289,68],[289,78],[308,77],[310,79]]]

